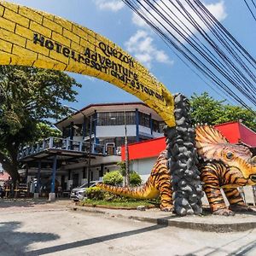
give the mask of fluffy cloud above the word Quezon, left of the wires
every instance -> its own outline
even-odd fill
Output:
[[[154,38],[144,30],[138,30],[131,36],[125,42],[125,48],[148,68],[152,67],[153,61],[169,65],[173,63],[163,50],[155,47]]]

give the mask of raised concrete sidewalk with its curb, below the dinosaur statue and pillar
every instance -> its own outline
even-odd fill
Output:
[[[160,209],[137,211],[79,206],[68,206],[68,208],[84,213],[106,214],[113,218],[130,218],[154,224],[208,232],[237,232],[256,228],[256,212],[236,213],[235,216],[225,217],[212,215],[210,212],[204,211],[202,216],[177,217],[171,212],[161,212]]]

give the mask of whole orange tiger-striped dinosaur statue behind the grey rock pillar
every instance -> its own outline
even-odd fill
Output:
[[[249,211],[238,187],[256,184],[256,156],[249,148],[230,144],[216,129],[209,125],[195,127],[195,145],[199,156],[198,168],[201,183],[213,214],[234,215]],[[172,177],[167,167],[167,151],[157,158],[148,181],[136,188],[109,186],[98,183],[103,190],[116,195],[138,199],[152,199],[160,195],[160,209],[172,211]],[[224,190],[230,207],[226,207],[221,190]]]

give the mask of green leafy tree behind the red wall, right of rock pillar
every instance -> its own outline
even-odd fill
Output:
[[[213,99],[207,92],[202,93],[201,96],[194,94],[189,102],[193,124],[218,125],[239,120],[253,131],[256,131],[256,115],[246,108],[224,104],[224,101]]]

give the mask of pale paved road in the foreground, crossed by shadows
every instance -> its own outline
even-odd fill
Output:
[[[256,230],[182,230],[66,205],[0,202],[0,255],[256,255]]]

